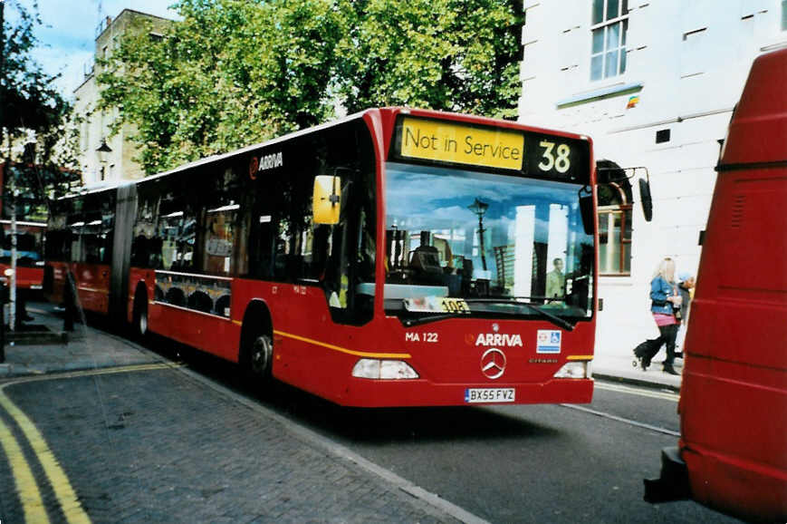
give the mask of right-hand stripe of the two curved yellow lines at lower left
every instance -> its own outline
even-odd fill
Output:
[[[27,441],[30,442],[30,446],[33,448],[33,451],[35,451],[35,456],[38,458],[38,461],[41,462],[43,472],[46,473],[49,483],[52,485],[54,496],[60,503],[65,519],[69,523],[91,522],[88,514],[82,509],[82,504],[77,499],[76,493],[65,471],[62,471],[57,459],[54,458],[54,453],[49,449],[46,441],[43,440],[43,435],[35,427],[33,421],[31,421],[22,410],[17,408],[16,405],[11,402],[11,399],[5,396],[5,393],[2,391],[0,391],[0,406],[3,406],[5,411],[14,418],[14,421],[19,425]],[[32,519],[28,521],[36,522],[37,520]]]

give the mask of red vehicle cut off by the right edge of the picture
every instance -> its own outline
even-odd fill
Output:
[[[716,170],[686,335],[681,438],[652,502],[787,520],[787,50],[752,66]]]

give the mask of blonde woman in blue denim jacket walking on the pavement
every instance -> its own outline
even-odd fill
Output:
[[[665,258],[658,263],[653,279],[650,281],[650,312],[656,321],[659,344],[667,344],[667,359],[664,361],[664,373],[677,374],[672,366],[675,361],[675,338],[680,321],[675,316],[675,310],[680,310],[682,298],[677,290],[675,281],[675,261]],[[648,367],[643,362],[643,367]]]

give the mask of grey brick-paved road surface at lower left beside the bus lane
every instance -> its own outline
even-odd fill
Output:
[[[450,522],[440,509],[206,387],[178,369],[90,374],[7,385],[94,522]],[[67,521],[57,482],[20,442],[53,521]],[[0,455],[0,519],[24,521]]]

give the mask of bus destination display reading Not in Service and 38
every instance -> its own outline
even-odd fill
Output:
[[[590,181],[589,141],[458,121],[400,117],[391,157],[530,178]]]

